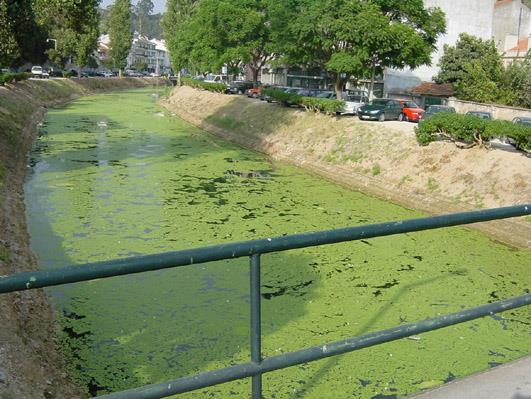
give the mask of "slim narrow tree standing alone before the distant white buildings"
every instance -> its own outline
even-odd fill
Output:
[[[116,0],[111,8],[109,18],[110,58],[115,68],[122,70],[127,65],[127,55],[131,50],[131,2],[129,0]]]

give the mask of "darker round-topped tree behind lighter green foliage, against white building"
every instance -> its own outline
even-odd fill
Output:
[[[500,80],[503,63],[494,41],[461,33],[455,46],[444,46],[444,54],[439,61],[441,70],[435,77],[435,81],[437,83],[459,83],[465,77],[466,65],[476,60],[490,80],[494,82]]]

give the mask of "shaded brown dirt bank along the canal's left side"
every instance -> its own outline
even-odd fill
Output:
[[[54,79],[0,87],[0,278],[36,268],[26,231],[23,184],[27,154],[46,107],[96,91],[154,83],[139,78]],[[54,320],[42,290],[0,295],[1,399],[87,396],[64,372]]]

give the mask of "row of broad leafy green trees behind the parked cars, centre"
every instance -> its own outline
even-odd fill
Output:
[[[422,0],[169,0],[163,28],[176,70],[315,67],[339,96],[347,79],[429,64],[445,17]]]

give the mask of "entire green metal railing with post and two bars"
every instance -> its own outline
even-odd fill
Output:
[[[100,398],[163,398],[174,394],[190,392],[212,385],[251,377],[252,398],[260,399],[262,398],[262,374],[264,373],[352,352],[358,349],[382,344],[384,342],[394,341],[427,331],[433,331],[453,324],[463,323],[465,321],[531,304],[531,294],[528,293],[461,312],[451,313],[416,323],[405,324],[399,327],[345,339],[343,341],[326,343],[324,345],[289,352],[279,356],[262,358],[260,313],[261,254],[484,222],[495,219],[525,216],[529,214],[531,214],[531,204],[314,233],[294,234],[262,240],[243,241],[108,262],[88,263],[61,269],[17,273],[11,276],[0,276],[0,294],[248,256],[250,258],[251,271],[251,362],[204,372],[190,377],[111,393],[100,396]]]

